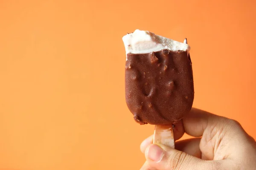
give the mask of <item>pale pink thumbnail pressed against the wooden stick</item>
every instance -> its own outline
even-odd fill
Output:
[[[163,149],[157,144],[151,144],[145,155],[151,161],[160,161],[163,158]]]

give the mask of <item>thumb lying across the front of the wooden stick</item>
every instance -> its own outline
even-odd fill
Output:
[[[209,170],[213,162],[163,145],[150,144],[145,150],[148,165],[157,170]]]

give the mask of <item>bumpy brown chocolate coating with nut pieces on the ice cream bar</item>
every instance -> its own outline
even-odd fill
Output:
[[[125,98],[137,123],[179,121],[192,108],[192,62],[186,51],[127,54]]]

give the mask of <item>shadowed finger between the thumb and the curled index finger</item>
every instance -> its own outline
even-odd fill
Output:
[[[200,140],[201,138],[192,138],[178,141],[175,143],[175,149],[201,159]]]

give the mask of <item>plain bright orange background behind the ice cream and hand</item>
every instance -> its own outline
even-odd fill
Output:
[[[253,0],[0,0],[0,169],[137,170],[122,36],[188,38],[194,106],[256,138]],[[184,136],[186,138],[188,136]]]

